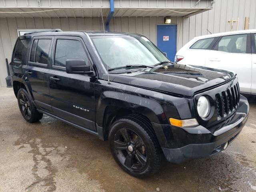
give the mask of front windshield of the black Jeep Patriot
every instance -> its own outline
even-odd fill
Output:
[[[152,66],[168,58],[147,38],[141,36],[91,36],[108,69],[126,65]]]

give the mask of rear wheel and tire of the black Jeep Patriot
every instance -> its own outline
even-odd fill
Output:
[[[43,114],[36,110],[36,106],[34,106],[30,95],[25,89],[20,88],[17,99],[20,112],[27,122],[34,123],[42,119]]]

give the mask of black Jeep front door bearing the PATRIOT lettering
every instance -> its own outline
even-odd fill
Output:
[[[94,82],[95,77],[86,74],[66,73],[66,60],[90,61],[81,38],[55,37],[52,65],[48,74],[53,114],[82,128],[96,131]]]

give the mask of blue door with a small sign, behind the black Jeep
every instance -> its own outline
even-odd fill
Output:
[[[157,25],[157,46],[174,61],[176,54],[177,25]]]

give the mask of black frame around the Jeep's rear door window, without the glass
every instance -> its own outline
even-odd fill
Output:
[[[50,39],[51,40],[51,44],[50,44],[50,49],[49,49],[49,55],[48,55],[48,63],[47,64],[43,64],[43,63],[36,63],[36,62],[32,62],[30,61],[30,56],[31,56],[31,52],[32,52],[32,46],[33,46],[33,43],[34,43],[34,40],[38,39],[38,41],[40,39]],[[38,42],[37,42],[38,44]],[[36,44],[36,49],[37,49],[37,44]],[[52,53],[52,44],[53,44],[53,37],[52,36],[36,36],[36,37],[33,37],[31,40],[30,40],[30,44],[29,44],[29,52],[28,52],[28,57],[27,57],[27,61],[28,61],[28,64],[31,65],[31,66],[36,66],[36,67],[41,67],[41,68],[49,68],[50,66],[50,60],[51,60],[51,53]],[[35,52],[36,54],[36,52]]]

